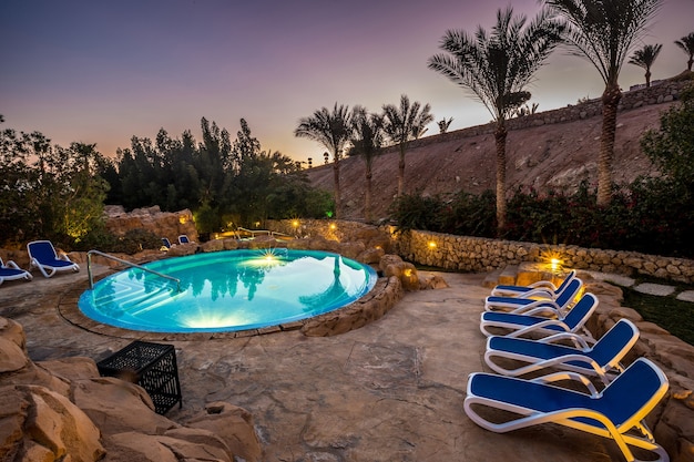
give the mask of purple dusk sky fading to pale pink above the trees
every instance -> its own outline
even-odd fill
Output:
[[[427,69],[448,29],[490,30],[508,1],[489,0],[3,0],[1,127],[53,143],[96,143],[105,155],[135,136],[173,137],[200,120],[236,136],[248,122],[263,150],[322,163],[324,147],[296,138],[300,117],[335,102],[379,112],[400,94],[431,104],[449,130],[489,122],[484,106]],[[535,0],[514,0],[533,17]],[[686,68],[674,41],[694,31],[694,0],[665,0],[643,43],[663,43],[654,80]],[[641,45],[642,43],[640,43]],[[624,90],[644,81],[624,64]],[[592,65],[557,51],[529,88],[539,111],[598,97]],[[436,122],[429,134],[438,133]]]

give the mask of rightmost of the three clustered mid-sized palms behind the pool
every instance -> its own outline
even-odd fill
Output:
[[[400,106],[384,105],[384,130],[390,141],[398,145],[400,162],[398,164],[398,196],[405,192],[405,153],[411,140],[419,138],[426,131],[428,123],[433,121],[431,106],[415,101],[410,105],[407,95],[400,95]]]

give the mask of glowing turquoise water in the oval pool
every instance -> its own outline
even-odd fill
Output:
[[[376,284],[368,265],[316,250],[228,250],[166,258],[108,276],[78,306],[106,325],[153,332],[256,329],[344,307]]]

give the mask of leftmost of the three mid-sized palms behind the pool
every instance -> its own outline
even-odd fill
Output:
[[[316,141],[333,154],[333,175],[335,183],[335,218],[341,216],[340,189],[339,189],[339,161],[343,150],[351,135],[351,114],[349,107],[335,103],[333,112],[327,107],[314,112],[309,117],[299,120],[299,126],[294,131],[294,136]],[[327,153],[326,153],[327,160]]]

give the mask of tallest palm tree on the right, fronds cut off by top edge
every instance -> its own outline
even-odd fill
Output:
[[[663,0],[544,1],[563,17],[572,53],[588,59],[605,83],[598,157],[598,205],[606,205],[612,198],[616,110],[622,99],[618,83],[620,71],[635,40],[644,33]]]

